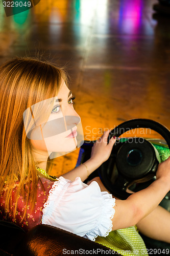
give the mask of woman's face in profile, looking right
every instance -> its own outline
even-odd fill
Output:
[[[52,152],[62,152],[67,154],[76,149],[77,146],[77,124],[80,122],[80,116],[74,110],[71,91],[63,81],[56,97],[57,102],[53,105],[53,110],[45,125],[41,127],[41,138],[36,138],[39,130],[33,130],[31,135],[31,144],[34,150]],[[75,132],[74,132],[75,131]],[[74,132],[71,134],[71,132]],[[70,135],[71,134],[71,135]],[[68,136],[69,135],[69,136]]]

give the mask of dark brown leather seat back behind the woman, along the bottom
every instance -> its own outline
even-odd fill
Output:
[[[103,245],[50,225],[37,225],[27,233],[7,221],[0,221],[0,227],[1,256],[59,256],[74,252],[81,255],[89,251],[108,254],[109,250]],[[120,255],[115,251],[112,254]]]

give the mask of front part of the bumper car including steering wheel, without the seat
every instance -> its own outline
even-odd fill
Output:
[[[131,194],[149,186],[156,179],[158,164],[170,155],[170,131],[162,124],[150,119],[132,119],[113,129],[112,136],[120,137],[124,133],[138,128],[151,129],[163,139],[125,137],[116,141],[109,159],[96,169],[86,181],[99,176],[110,193],[118,199],[125,200]],[[91,147],[95,141],[84,141],[79,152],[77,165],[90,158]],[[160,205],[170,212],[170,191]],[[148,249],[169,249],[170,244],[148,238],[140,233]]]

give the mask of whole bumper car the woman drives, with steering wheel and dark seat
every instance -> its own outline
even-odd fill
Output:
[[[109,159],[96,169],[85,182],[99,176],[110,193],[122,200],[127,199],[130,195],[127,189],[136,192],[150,185],[155,180],[159,162],[166,160],[170,155],[169,130],[153,120],[133,119],[115,127],[109,134],[108,142],[112,136],[120,137],[125,132],[140,127],[156,131],[163,139],[121,138],[114,144]],[[76,167],[90,158],[93,143],[95,141],[84,141],[80,148]],[[160,205],[170,211],[170,192],[167,193]],[[108,254],[108,250],[110,250],[99,243],[53,226],[37,225],[27,233],[22,228],[6,221],[0,221],[0,227],[0,256],[56,256],[71,254],[71,251],[80,249],[98,251],[99,254],[103,250],[103,253]],[[140,235],[147,248],[170,249],[170,245],[167,243]],[[77,253],[77,255],[79,254],[82,254],[82,251]],[[121,255],[116,251],[113,251],[112,254]]]

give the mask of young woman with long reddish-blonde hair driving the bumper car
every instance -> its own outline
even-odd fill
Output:
[[[110,156],[115,138],[107,144],[108,130],[88,161],[53,179],[47,175],[51,155],[76,148],[80,123],[63,70],[15,58],[0,67],[0,83],[2,219],[25,230],[49,224],[92,241],[137,225],[147,236],[170,243],[170,214],[158,206],[170,190],[170,158],[159,164],[149,187],[115,200],[98,178],[83,183]]]

